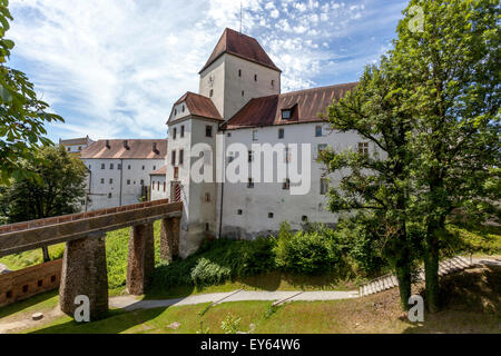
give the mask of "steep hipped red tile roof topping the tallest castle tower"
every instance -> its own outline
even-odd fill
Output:
[[[275,66],[255,38],[227,28],[223,32],[223,36],[214,48],[207,63],[205,63],[199,73],[207,69],[207,67],[214,63],[224,53],[234,55],[252,62],[282,71]]]

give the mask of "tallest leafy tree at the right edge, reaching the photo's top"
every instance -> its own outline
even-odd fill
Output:
[[[423,30],[412,29],[419,7]],[[426,231],[426,304],[439,309],[440,246],[458,208],[499,199],[501,32],[499,0],[411,0],[391,51],[413,116],[413,214]],[[499,184],[498,184],[499,186]],[[493,194],[490,196],[490,194]]]

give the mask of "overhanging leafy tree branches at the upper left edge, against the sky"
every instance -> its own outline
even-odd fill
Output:
[[[43,125],[63,121],[55,113],[47,112],[49,106],[39,100],[28,77],[6,66],[13,41],[6,39],[9,20],[9,1],[0,0],[0,184],[9,184],[10,178],[29,176],[22,160],[36,164],[33,150],[51,145],[45,137]]]

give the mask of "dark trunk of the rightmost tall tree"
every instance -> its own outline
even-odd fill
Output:
[[[426,305],[430,313],[436,313],[440,309],[438,229],[435,224],[429,225],[424,254]]]

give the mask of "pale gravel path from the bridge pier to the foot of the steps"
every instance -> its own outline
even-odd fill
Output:
[[[253,291],[253,290],[234,290],[229,293],[210,293],[188,296],[186,298],[161,299],[161,300],[138,300],[132,296],[122,296],[110,298],[110,307],[125,310],[153,309],[169,306],[195,305],[203,303],[220,304],[227,301],[245,301],[245,300],[276,300],[277,304],[292,300],[338,300],[357,298],[358,291],[336,291],[336,290],[318,290],[318,291]]]

